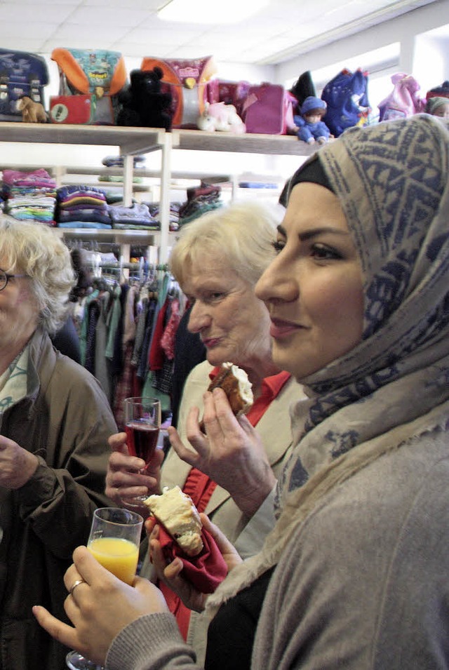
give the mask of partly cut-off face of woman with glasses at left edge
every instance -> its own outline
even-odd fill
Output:
[[[8,267],[0,258],[0,267]],[[23,274],[20,270],[8,274]],[[8,279],[0,291],[0,348],[20,351],[36,330],[39,307],[27,277]]]

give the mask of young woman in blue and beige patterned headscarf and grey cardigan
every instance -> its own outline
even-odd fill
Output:
[[[309,399],[273,532],[208,598],[208,668],[449,667],[448,168],[448,129],[417,115],[345,131],[290,182],[256,290]],[[205,411],[220,421],[223,403]],[[82,548],[66,586],[80,574],[76,630],[36,611],[48,630],[109,670],[197,667],[154,587],[122,587]],[[129,608],[115,628],[106,603]]]

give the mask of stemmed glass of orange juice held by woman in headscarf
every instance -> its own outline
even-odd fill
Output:
[[[126,584],[133,584],[138,567],[143,518],[121,507],[95,509],[87,548],[104,568]],[[66,657],[71,670],[104,670],[78,652]]]

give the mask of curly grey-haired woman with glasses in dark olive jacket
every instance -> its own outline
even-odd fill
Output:
[[[42,224],[0,217],[0,668],[61,670],[67,649],[32,615],[64,616],[62,580],[86,542],[116,430],[100,385],[49,334],[76,283],[69,250]]]

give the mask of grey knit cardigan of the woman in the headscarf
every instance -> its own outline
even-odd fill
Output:
[[[448,447],[447,431],[415,438],[298,525],[264,599],[253,670],[449,669]],[[165,614],[130,624],[107,656],[108,670],[199,667]]]

